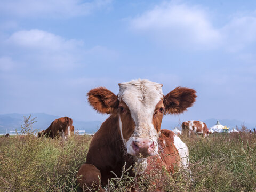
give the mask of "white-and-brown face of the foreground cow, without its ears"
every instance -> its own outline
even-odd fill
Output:
[[[119,87],[119,127],[127,153],[155,155],[164,113],[162,84],[135,80]]]

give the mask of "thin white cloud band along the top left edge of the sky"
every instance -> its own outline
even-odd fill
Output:
[[[18,17],[75,17],[88,15],[111,3],[111,0],[8,0],[0,1],[2,14]]]

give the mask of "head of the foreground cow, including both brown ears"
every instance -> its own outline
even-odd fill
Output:
[[[87,94],[99,113],[119,117],[119,134],[132,156],[155,155],[163,115],[182,113],[195,102],[194,89],[177,87],[164,96],[162,86],[138,79],[119,83],[117,96],[103,87]]]

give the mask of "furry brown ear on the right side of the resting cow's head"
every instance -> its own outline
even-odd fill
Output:
[[[164,96],[166,114],[179,114],[191,107],[196,101],[196,91],[183,87],[176,87]]]

